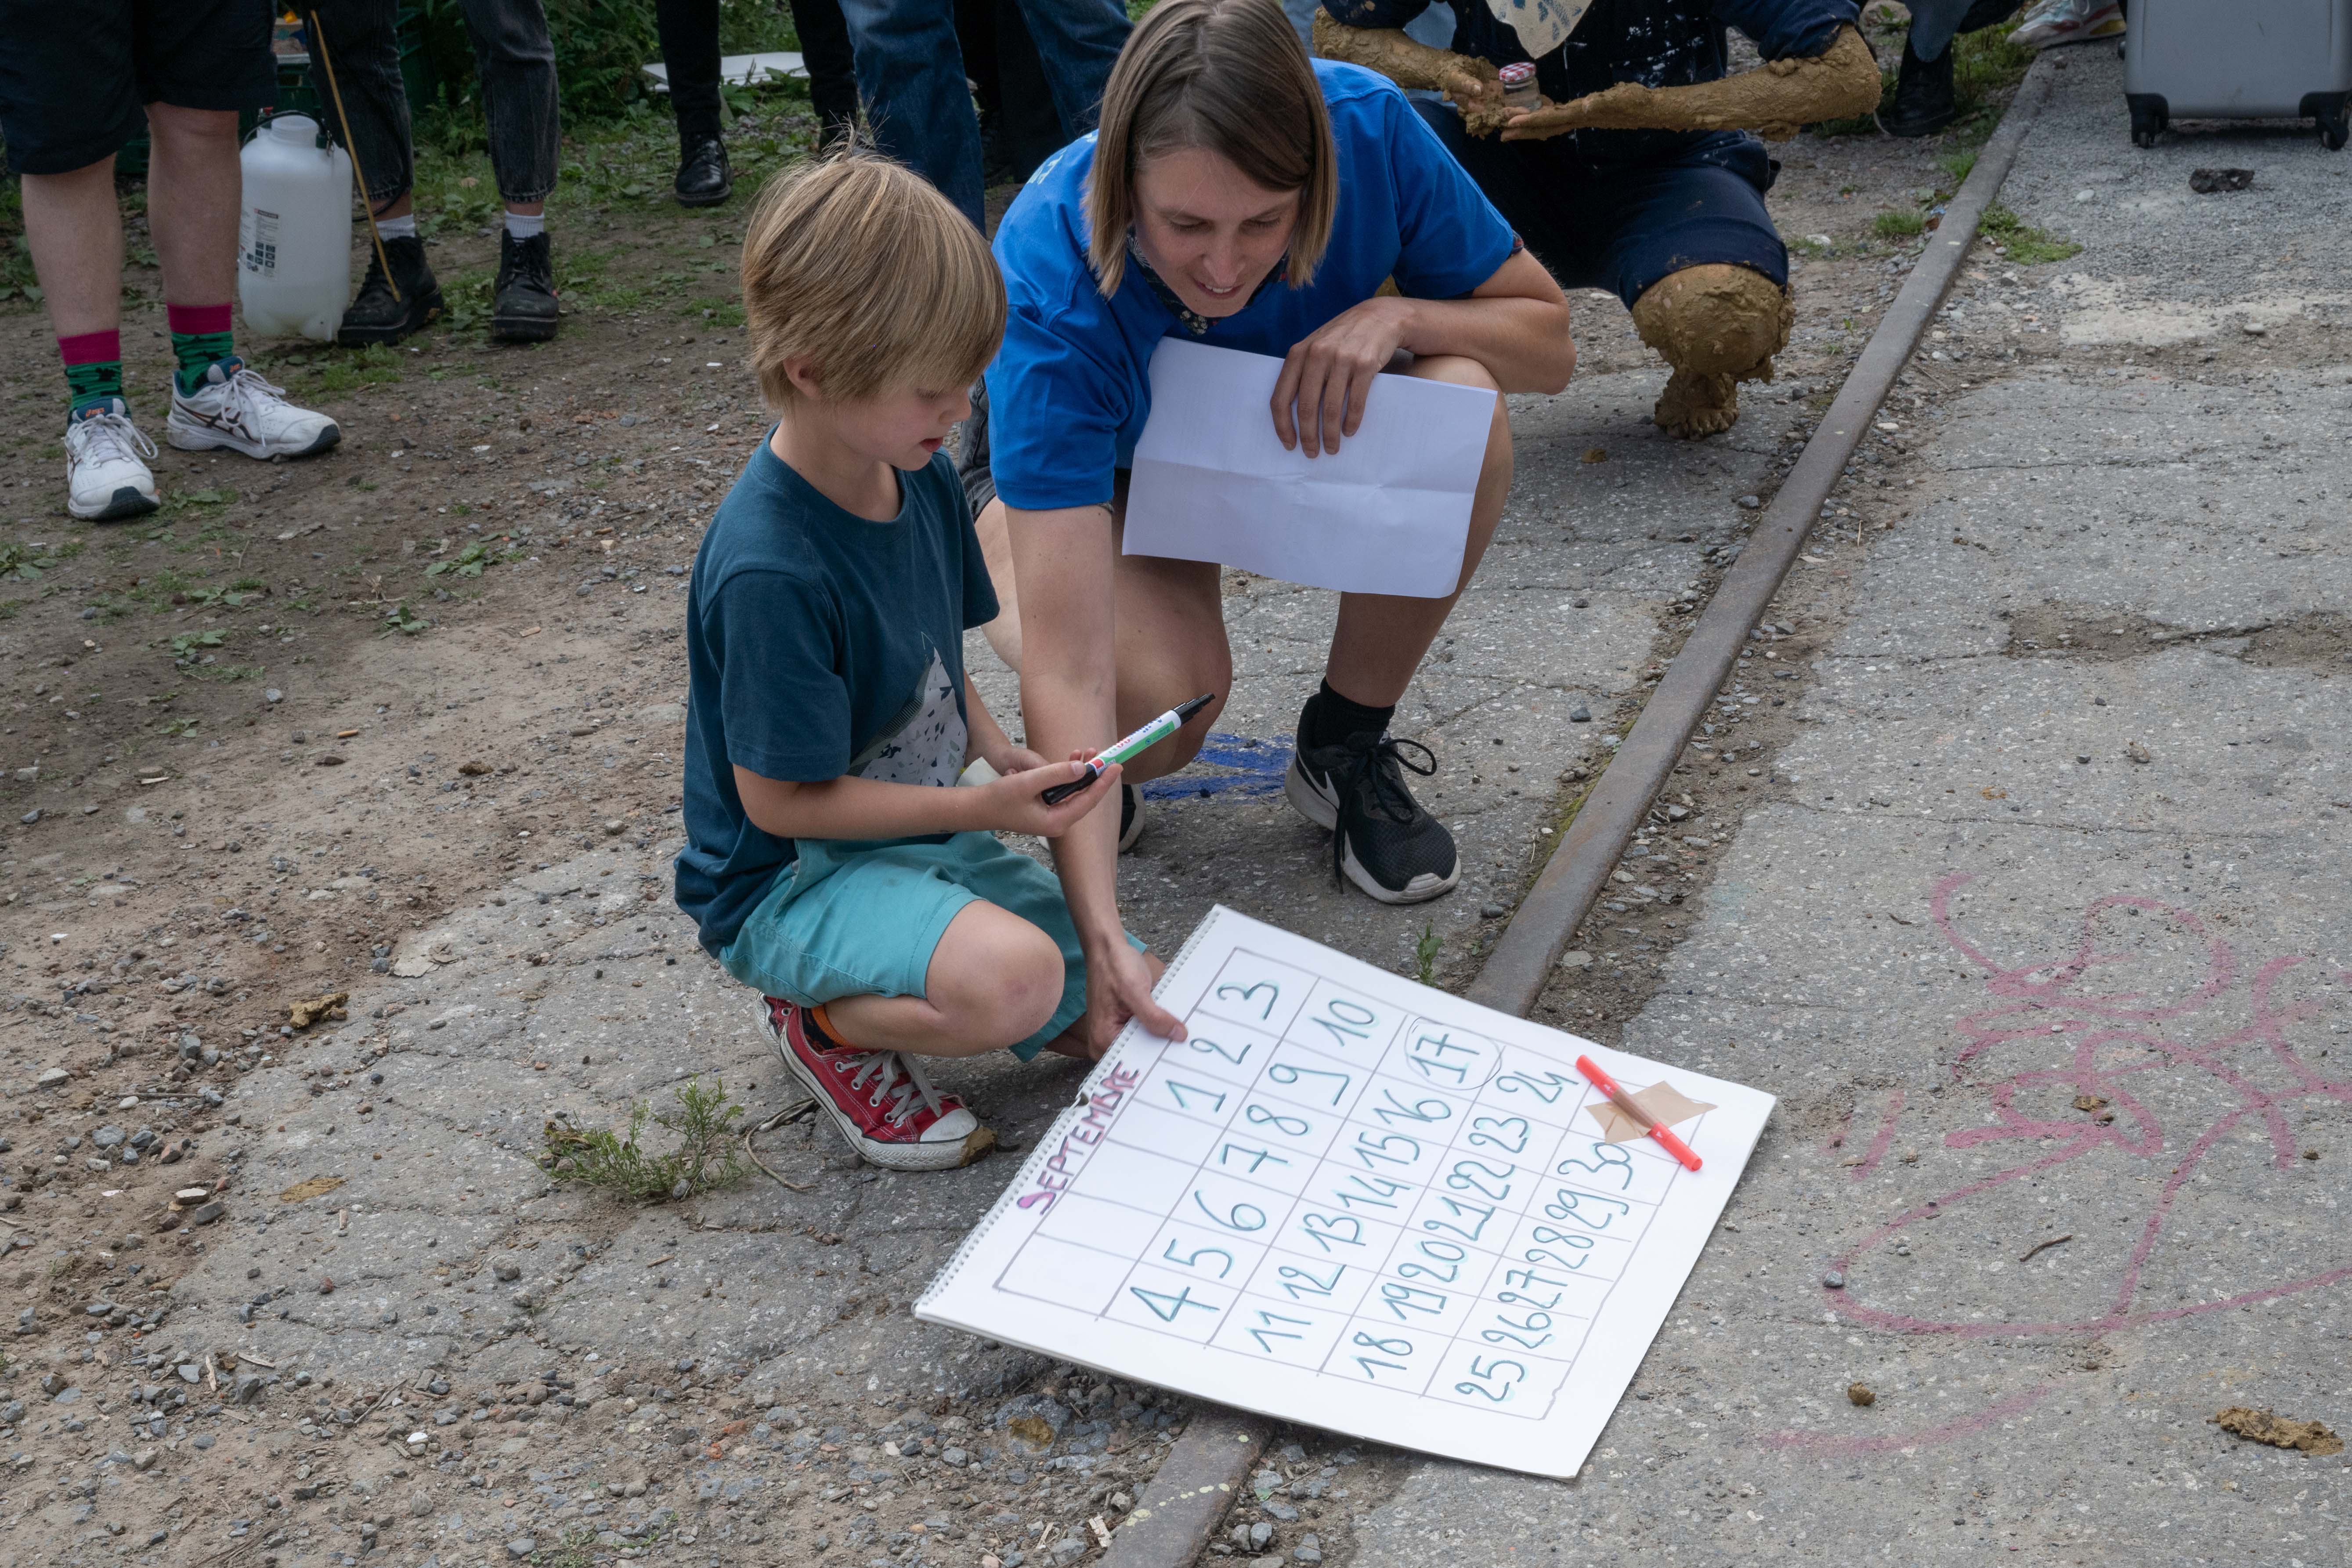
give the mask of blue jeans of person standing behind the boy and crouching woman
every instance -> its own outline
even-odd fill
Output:
[[[997,0],[1014,5],[1014,0]],[[1018,0],[1065,136],[1094,129],[1110,63],[1127,42],[1112,0]],[[858,96],[875,146],[981,219],[981,120],[955,42],[955,0],[842,0],[858,59]]]

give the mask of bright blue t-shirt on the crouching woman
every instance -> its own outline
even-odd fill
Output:
[[[1421,122],[1395,82],[1359,66],[1315,61],[1338,148],[1338,212],[1315,280],[1275,277],[1235,315],[1190,334],[1129,259],[1103,299],[1087,263],[1087,134],[1040,167],[997,228],[1009,315],[988,367],[988,444],[1007,505],[1044,512],[1110,501],[1152,411],[1160,339],[1284,355],[1388,277],[1414,299],[1461,299],[1517,247],[1503,214]],[[1270,418],[1237,409],[1237,418]]]

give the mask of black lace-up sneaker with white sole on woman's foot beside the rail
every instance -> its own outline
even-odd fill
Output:
[[[1308,710],[1298,715],[1298,733],[1312,733]],[[1428,766],[1409,762],[1402,748],[1421,752]],[[1338,745],[1291,752],[1282,792],[1298,816],[1331,830],[1331,867],[1381,903],[1423,903],[1454,891],[1463,863],[1454,835],[1421,809],[1404,788],[1404,773],[1428,778],[1437,757],[1418,741],[1395,741],[1369,729]]]

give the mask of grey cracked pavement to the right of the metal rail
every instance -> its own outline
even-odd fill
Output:
[[[2211,1418],[2352,1415],[2347,188],[2072,52],[2009,202],[2084,252],[1980,247],[1623,1032],[1780,1114],[1588,1472],[1416,1465],[1357,1563],[2345,1561],[2343,1455]]]

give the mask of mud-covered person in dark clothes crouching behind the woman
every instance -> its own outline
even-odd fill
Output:
[[[1729,430],[1795,320],[1757,136],[1877,106],[1858,0],[1446,0],[1451,49],[1402,31],[1430,2],[1322,0],[1315,52],[1444,94],[1421,118],[1536,259],[1613,292],[1665,355],[1658,428]],[[1726,75],[1726,26],[1762,68]]]

